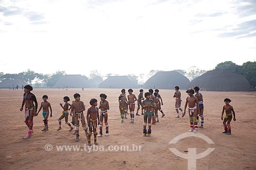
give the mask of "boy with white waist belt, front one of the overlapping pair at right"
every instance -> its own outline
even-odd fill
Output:
[[[184,113],[182,114],[182,117],[186,114],[186,108],[188,104],[188,112],[189,112],[189,122],[190,122],[190,130],[188,132],[195,132],[197,133],[198,125],[197,125],[197,115],[200,113],[200,110],[198,105],[198,99],[193,95],[195,94],[195,91],[193,89],[190,89],[188,91],[189,96],[186,98],[186,104],[184,108]]]

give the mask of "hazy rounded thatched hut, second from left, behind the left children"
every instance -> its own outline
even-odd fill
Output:
[[[59,79],[54,88],[89,88],[89,81],[81,75],[65,75]]]

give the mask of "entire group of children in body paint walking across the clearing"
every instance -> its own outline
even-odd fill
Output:
[[[27,135],[24,137],[24,139],[30,138],[30,136],[33,133],[33,117],[37,116],[40,110],[42,109],[42,115],[44,117],[44,129],[42,131],[48,131],[48,117],[50,114],[50,117],[52,117],[52,108],[51,104],[47,101],[48,96],[43,95],[40,108],[37,111],[37,100],[35,95],[31,92],[33,90],[32,86],[26,85],[24,87],[24,98],[22,107],[20,108],[20,111],[23,111],[23,107],[25,105],[25,123],[29,128],[29,131]],[[179,87],[175,87],[175,93],[174,98],[176,98],[175,103],[175,109],[176,109],[176,117],[179,118],[179,110],[182,112],[182,117],[186,114],[186,108],[188,107],[189,112],[189,122],[190,122],[190,130],[189,132],[195,132],[198,131],[198,119],[199,116],[201,118],[201,125],[200,128],[203,128],[204,126],[204,116],[203,116],[203,95],[199,92],[200,88],[195,87],[194,89],[187,90],[187,98],[184,110],[181,108],[181,92],[179,91]],[[143,115],[143,136],[151,136],[151,126],[152,124],[159,123],[159,117],[158,117],[158,111],[162,113],[161,117],[164,117],[165,114],[163,113],[161,109],[161,105],[163,105],[163,100],[161,98],[161,95],[159,94],[159,90],[155,89],[155,93],[153,89],[149,89],[148,92],[145,92],[143,95],[143,89],[139,90],[140,93],[138,95],[138,99],[136,98],[136,95],[133,94],[133,89],[129,89],[129,95],[125,95],[125,89],[121,90],[121,94],[119,95],[118,102],[119,102],[119,110],[120,110],[120,116],[121,116],[121,123],[124,123],[124,119],[127,119],[128,108],[130,110],[130,117],[131,117],[131,123],[134,123],[135,117],[134,117],[134,111],[135,111],[135,103],[137,101],[137,111],[136,115],[140,116],[139,110],[141,108],[141,115]],[[196,92],[196,94],[195,94]],[[194,95],[195,94],[195,95]],[[68,96],[65,96],[63,98],[63,102],[65,104],[63,105],[60,103],[60,107],[63,109],[61,116],[58,118],[59,128],[57,131],[61,130],[61,119],[65,118],[65,123],[70,127],[69,131],[72,131],[75,129],[74,135],[76,136],[75,141],[79,141],[79,123],[81,122],[82,128],[84,130],[84,133],[87,137],[88,144],[91,145],[91,135],[93,133],[94,136],[94,144],[97,143],[97,135],[98,137],[101,137],[103,135],[102,128],[103,128],[103,119],[105,124],[105,136],[109,136],[109,123],[108,123],[108,110],[110,109],[109,102],[106,101],[106,94],[101,93],[100,95],[100,103],[99,107],[97,99],[91,99],[90,105],[91,107],[87,111],[86,118],[84,117],[84,111],[86,110],[84,103],[80,101],[80,94],[75,93],[74,94],[74,101],[72,104],[69,104],[70,98]],[[127,100],[128,99],[128,100]],[[232,115],[234,116],[233,120],[236,121],[236,116],[233,110],[233,107],[229,105],[231,102],[230,99],[224,100],[225,105],[223,106],[222,116],[221,119],[223,119],[224,111],[226,112],[226,116],[223,121],[224,126],[224,132],[225,134],[230,135],[231,134],[231,127],[230,122],[232,120]],[[71,124],[68,122],[69,117],[69,111],[70,115],[72,116],[72,122]],[[100,111],[100,112],[99,112]],[[199,115],[199,116],[198,116]],[[73,126],[74,128],[73,128]],[[97,134],[97,125],[99,125],[99,134]],[[148,125],[148,129],[146,129],[146,126]],[[88,129],[89,128],[89,129]]]

